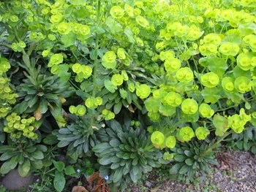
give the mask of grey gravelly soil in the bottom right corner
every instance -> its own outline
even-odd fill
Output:
[[[148,174],[143,185],[130,185],[127,192],[256,192],[256,155],[244,151],[217,154],[219,166],[207,177],[193,184],[166,179],[155,182],[159,175]]]

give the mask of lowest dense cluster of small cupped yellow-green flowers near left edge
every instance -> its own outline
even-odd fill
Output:
[[[4,127],[4,132],[10,134],[12,139],[18,139],[21,136],[28,137],[29,139],[37,139],[38,135],[34,132],[33,123],[35,118],[28,118],[20,116],[15,112],[6,117],[7,123]]]

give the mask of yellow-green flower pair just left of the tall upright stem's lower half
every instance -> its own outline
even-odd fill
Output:
[[[72,71],[77,74],[75,77],[76,82],[82,82],[84,79],[89,78],[92,74],[91,66],[81,64],[73,64]]]

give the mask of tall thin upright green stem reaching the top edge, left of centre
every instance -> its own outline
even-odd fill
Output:
[[[100,20],[100,0],[97,1],[97,23],[96,23],[96,32],[95,32],[95,49],[94,50],[98,50],[99,49],[99,36],[97,34],[97,28],[99,26],[99,20]],[[96,83],[96,79],[97,79],[97,69],[99,66],[99,61],[98,61],[98,53],[97,56],[94,60],[94,77],[93,77],[93,82],[94,82],[94,89],[92,91],[92,96],[96,95],[96,91],[97,91],[97,83]]]

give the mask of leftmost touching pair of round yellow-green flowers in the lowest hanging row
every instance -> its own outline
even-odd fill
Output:
[[[154,147],[157,148],[173,148],[176,145],[176,138],[174,136],[165,137],[162,132],[154,131],[153,134],[151,134],[151,142],[154,144]]]

